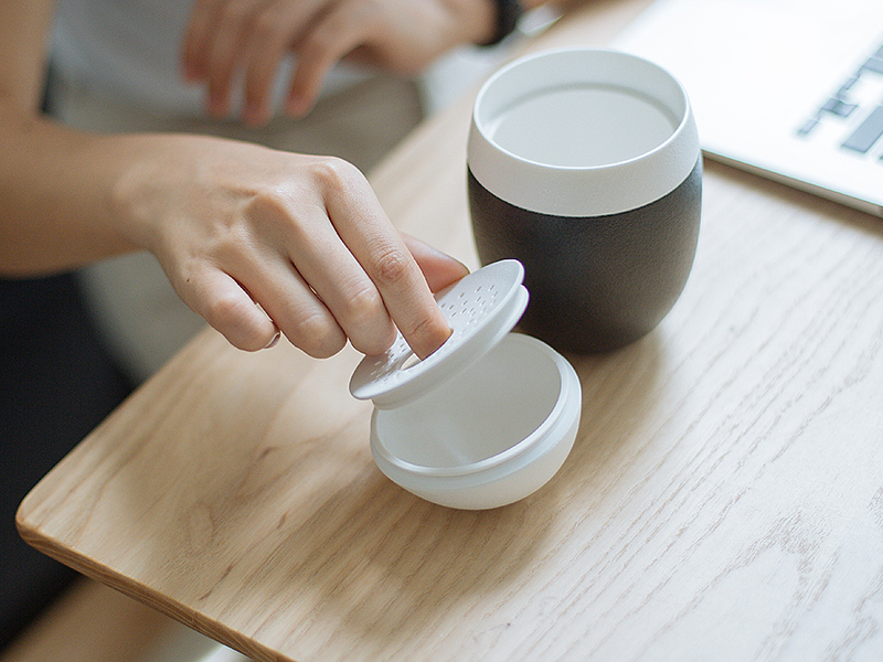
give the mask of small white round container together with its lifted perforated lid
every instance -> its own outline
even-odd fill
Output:
[[[506,505],[544,485],[570,453],[579,380],[545,343],[509,333],[528,302],[522,279],[515,260],[470,274],[438,297],[454,331],[439,350],[414,363],[400,339],[353,374],[353,395],[375,404],[374,461],[423,499]]]

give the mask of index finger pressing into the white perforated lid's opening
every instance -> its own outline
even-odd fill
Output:
[[[371,185],[343,167],[327,191],[326,204],[338,235],[377,287],[386,310],[414,353],[426,359],[451,330],[426,278],[393,227]],[[355,173],[355,174],[353,174]]]

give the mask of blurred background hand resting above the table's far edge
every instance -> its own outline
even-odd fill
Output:
[[[286,110],[304,115],[344,56],[413,75],[457,44],[487,40],[494,11],[491,0],[196,0],[184,35],[184,74],[208,86],[210,113],[224,116],[241,73],[244,119],[260,125],[289,52],[297,66]]]

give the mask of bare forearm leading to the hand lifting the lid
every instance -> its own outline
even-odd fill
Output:
[[[115,202],[136,154],[0,102],[0,274],[39,275],[130,252]]]

